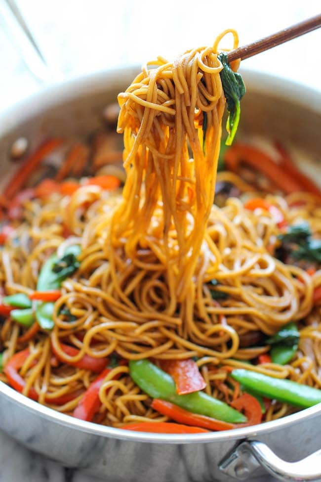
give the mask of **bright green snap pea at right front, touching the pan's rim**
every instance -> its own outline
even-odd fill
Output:
[[[269,377],[250,370],[236,369],[232,378],[240,382],[245,389],[255,394],[266,396],[302,408],[321,403],[321,390],[279,378]]]

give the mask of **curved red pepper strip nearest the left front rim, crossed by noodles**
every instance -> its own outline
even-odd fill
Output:
[[[30,350],[22,350],[15,353],[12,358],[5,365],[3,371],[8,379],[9,385],[14,388],[17,392],[22,393],[24,387],[26,386],[25,380],[19,375],[18,370],[22,367],[28,356],[30,355]],[[54,398],[45,398],[46,402],[52,403],[54,405],[64,405],[69,401],[73,400],[82,393],[80,390],[64,394]],[[28,398],[38,401],[38,393],[31,387],[28,393]]]

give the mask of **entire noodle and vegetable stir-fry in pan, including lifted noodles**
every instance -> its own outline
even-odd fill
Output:
[[[124,171],[99,133],[33,184],[50,139],[4,190],[0,378],[18,392],[170,434],[321,402],[321,193],[280,144],[234,140],[225,34],[119,94]]]

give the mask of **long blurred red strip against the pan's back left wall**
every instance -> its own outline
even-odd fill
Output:
[[[60,146],[61,143],[62,139],[59,138],[53,138],[43,142],[43,144],[41,144],[40,147],[31,154],[28,159],[26,159],[19,171],[10,180],[3,192],[5,198],[12,198],[16,192],[24,186],[29,176],[39,166],[43,159]]]

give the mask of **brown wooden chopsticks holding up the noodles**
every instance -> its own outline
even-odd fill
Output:
[[[292,25],[284,30],[280,30],[280,32],[269,35],[268,37],[264,37],[264,39],[257,40],[252,44],[244,45],[243,47],[231,50],[227,55],[228,61],[232,62],[232,60],[236,59],[244,60],[248,57],[256,55],[257,53],[264,52],[269,48],[276,47],[277,45],[284,44],[284,42],[295,39],[296,37],[300,37],[300,35],[312,32],[312,30],[316,30],[320,27],[321,14],[308,18],[307,20]]]

